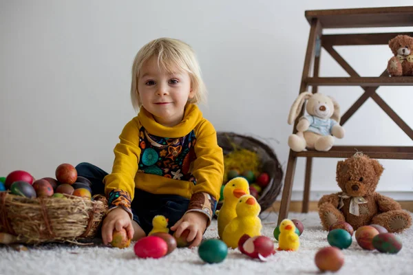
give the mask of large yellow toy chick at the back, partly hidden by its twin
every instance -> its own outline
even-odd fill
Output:
[[[244,177],[235,177],[228,181],[224,186],[224,202],[218,214],[218,236],[222,239],[222,234],[226,225],[235,217],[235,206],[241,196],[249,194],[249,184]]]

